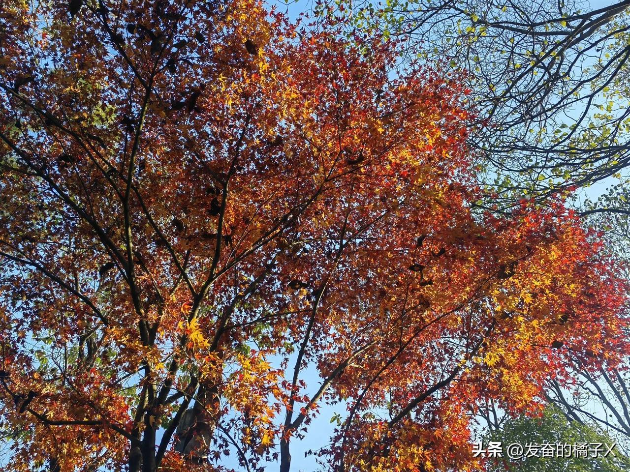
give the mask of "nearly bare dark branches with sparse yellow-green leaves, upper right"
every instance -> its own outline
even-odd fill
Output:
[[[510,206],[524,193],[588,186],[627,169],[627,0],[357,5],[354,24],[400,38],[408,58],[469,72],[479,109],[469,144],[483,156],[488,172],[480,176],[493,203]]]

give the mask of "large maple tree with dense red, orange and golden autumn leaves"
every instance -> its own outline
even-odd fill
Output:
[[[337,471],[469,470],[479,398],[627,351],[561,199],[473,211],[459,77],[338,21],[0,6],[4,470],[286,472],[322,402]]]

